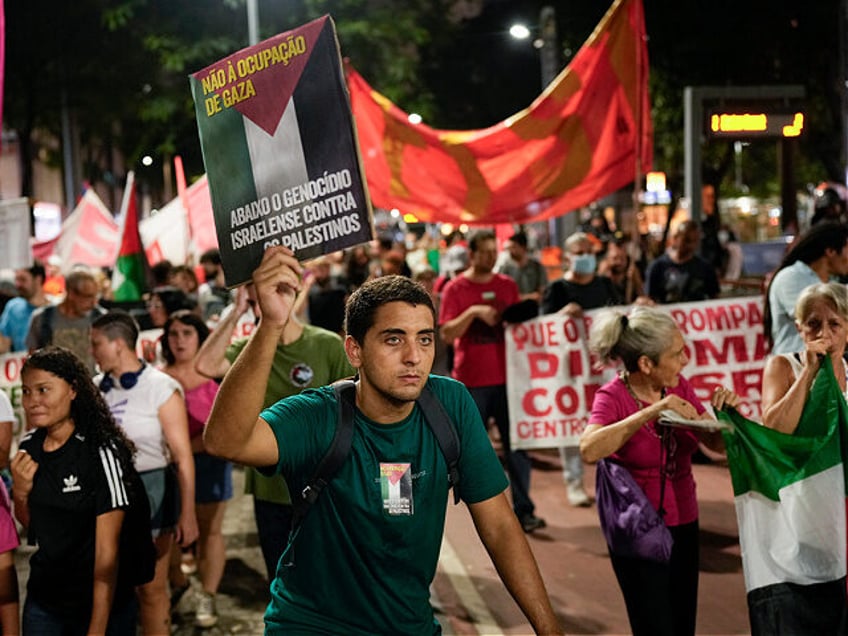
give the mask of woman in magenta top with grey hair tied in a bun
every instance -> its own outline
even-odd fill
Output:
[[[630,627],[635,636],[694,634],[698,504],[692,454],[699,441],[720,450],[721,436],[657,423],[664,410],[690,420],[712,419],[680,375],[689,358],[683,336],[668,314],[654,307],[637,307],[630,315],[605,311],[592,325],[589,344],[599,360],[620,362],[624,369],[595,394],[589,424],[580,438],[580,453],[589,463],[611,457],[627,468],[651,504],[665,510],[664,520],[674,539],[668,563],[610,551]],[[717,387],[711,401],[713,407],[721,408],[738,404],[739,397]]]

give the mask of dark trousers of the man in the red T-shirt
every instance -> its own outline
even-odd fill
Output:
[[[480,411],[483,424],[485,425],[486,420],[493,417],[498,425],[515,514],[519,518],[532,514],[536,507],[530,499],[530,457],[523,450],[512,450],[510,445],[506,385],[478,386],[469,388],[468,391],[474,398],[477,410]]]

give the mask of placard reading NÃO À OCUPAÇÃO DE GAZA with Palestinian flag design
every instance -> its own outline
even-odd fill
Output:
[[[304,260],[371,239],[329,16],[195,73],[191,90],[227,285],[272,245]]]

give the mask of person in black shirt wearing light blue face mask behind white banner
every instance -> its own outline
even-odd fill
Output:
[[[584,232],[575,232],[565,240],[565,274],[545,288],[542,296],[542,313],[559,313],[579,318],[587,309],[621,305],[624,299],[618,288],[606,276],[595,272],[592,240]],[[583,460],[576,446],[561,447],[568,503],[585,507],[592,501],[583,487]]]

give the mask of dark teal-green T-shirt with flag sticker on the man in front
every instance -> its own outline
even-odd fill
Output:
[[[507,480],[480,414],[459,382],[430,386],[460,439],[460,496],[503,492]],[[332,388],[305,391],[261,414],[280,449],[277,472],[298,490],[326,453],[338,418]],[[357,410],[350,454],[303,521],[271,584],[268,634],[434,634],[429,603],[444,532],[444,455],[420,407],[396,424]]]

